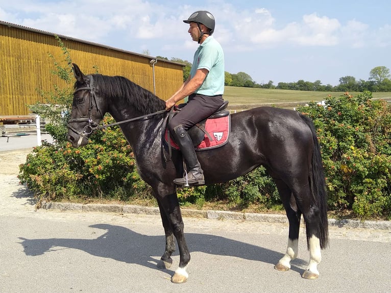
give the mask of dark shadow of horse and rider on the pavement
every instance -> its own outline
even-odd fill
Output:
[[[150,255],[159,251],[163,253],[164,236],[143,235],[124,227],[108,224],[96,224],[89,227],[103,229],[107,232],[95,239],[26,239],[19,237],[22,240],[20,244],[28,256],[38,256],[64,248],[71,248],[94,256],[156,268],[157,258]],[[233,256],[272,264],[282,257],[279,252],[222,236],[195,233],[186,233],[185,236],[187,242],[191,243],[190,252]],[[178,255],[178,249],[174,255]],[[300,273],[303,271],[302,266],[305,263],[302,259],[295,259],[292,262],[291,270]]]

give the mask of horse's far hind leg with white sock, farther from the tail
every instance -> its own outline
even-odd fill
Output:
[[[295,259],[299,252],[298,244],[301,212],[297,208],[296,200],[289,187],[282,180],[275,179],[275,182],[286,211],[286,216],[288,217],[289,236],[286,253],[274,268],[279,271],[288,271],[290,269],[290,261]]]

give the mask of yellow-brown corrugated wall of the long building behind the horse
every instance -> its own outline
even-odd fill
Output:
[[[72,62],[85,74],[95,73],[92,66],[97,66],[100,74],[124,76],[154,91],[152,57],[60,38],[69,49]],[[57,61],[64,60],[54,35],[0,23],[0,116],[29,114],[26,105],[42,100],[37,88],[52,91],[54,84],[65,86],[50,74],[54,63],[48,53]],[[183,82],[182,66],[158,60],[154,67],[156,94],[166,100]]]

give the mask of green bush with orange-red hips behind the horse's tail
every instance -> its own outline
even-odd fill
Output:
[[[298,111],[314,121],[322,148],[329,208],[391,217],[391,105],[371,92],[312,102]]]

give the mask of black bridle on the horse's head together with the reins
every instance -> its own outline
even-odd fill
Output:
[[[127,119],[127,120],[111,123],[111,124],[108,124],[108,125],[105,125],[105,124],[99,125],[99,123],[96,123],[94,120],[91,119],[91,111],[92,111],[93,106],[95,104],[96,110],[101,114],[101,120],[103,120],[102,112],[97,107],[96,97],[95,97],[95,87],[94,87],[93,83],[94,83],[94,81],[93,81],[92,76],[89,76],[89,86],[81,87],[81,88],[78,88],[78,89],[76,89],[74,91],[74,94],[79,92],[79,91],[82,91],[82,90],[89,90],[90,91],[90,98],[89,98],[89,102],[88,102],[89,106],[88,106],[88,114],[87,114],[87,116],[80,117],[80,118],[69,119],[68,120],[68,124],[67,124],[67,126],[68,126],[68,128],[70,130],[72,130],[76,134],[78,134],[81,137],[84,137],[86,139],[88,139],[88,135],[90,135],[94,130],[106,129],[107,127],[110,127],[110,126],[119,125],[119,124],[131,122],[131,121],[136,121],[136,120],[141,120],[141,119],[144,119],[144,118],[147,118],[147,117],[150,117],[150,116],[154,116],[154,115],[158,115],[158,114],[167,112],[167,110],[160,110],[160,111],[157,111],[157,112],[154,112],[154,113],[151,113],[151,114],[146,114],[146,115],[138,116],[138,117],[135,117],[135,118],[130,118],[130,119]],[[70,125],[70,123],[79,123],[79,122],[88,122],[88,124],[83,128],[83,132],[78,131],[77,129],[75,129],[74,127],[72,127]]]

